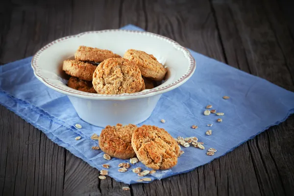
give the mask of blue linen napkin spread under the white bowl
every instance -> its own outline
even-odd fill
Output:
[[[143,30],[133,25],[123,29]],[[196,136],[204,142],[205,150],[195,147],[182,149],[184,154],[171,170],[157,171],[146,177],[152,180],[189,172],[209,163],[238,147],[272,125],[285,121],[294,113],[294,93],[280,88],[267,80],[242,72],[224,63],[190,50],[196,59],[195,74],[182,86],[163,94],[151,117],[142,124],[165,128],[173,137]],[[65,147],[92,167],[103,169],[109,164],[108,175],[127,184],[140,177],[131,171],[135,167],[147,169],[142,163],[131,164],[125,173],[118,172],[117,165],[129,160],[103,159],[101,150],[93,150],[98,141],[90,139],[99,134],[100,127],[83,122],[75,113],[67,96],[57,93],[33,74],[31,57],[0,66],[0,104],[13,111],[28,123],[42,130],[50,140]],[[230,99],[223,99],[229,96]],[[215,114],[204,116],[205,106],[223,112],[223,121]],[[160,120],[165,119],[166,123]],[[79,123],[81,129],[74,125]],[[119,122],[118,122],[119,123]],[[213,124],[211,127],[207,124]],[[195,124],[197,129],[192,129]],[[211,129],[212,135],[205,132]],[[81,140],[74,140],[81,136]],[[216,148],[214,156],[206,155],[207,149]],[[144,182],[148,183],[148,182]]]

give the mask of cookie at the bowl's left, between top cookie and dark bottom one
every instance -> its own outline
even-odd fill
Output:
[[[83,80],[92,81],[93,73],[97,66],[90,63],[85,63],[77,60],[65,60],[63,61],[62,70],[65,73],[78,77]]]

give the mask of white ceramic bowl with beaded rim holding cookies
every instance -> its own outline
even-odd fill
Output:
[[[66,85],[62,72],[64,60],[73,58],[78,46],[109,49],[123,56],[127,49],[153,54],[168,73],[165,81],[139,93],[101,95],[77,91]],[[161,94],[185,83],[194,73],[195,59],[175,41],[154,33],[132,30],[89,31],[55,40],[40,49],[32,58],[35,76],[49,88],[67,95],[78,116],[96,126],[138,124],[152,113]]]

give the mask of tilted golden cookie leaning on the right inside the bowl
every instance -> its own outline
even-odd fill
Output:
[[[144,51],[128,49],[123,58],[135,61],[142,72],[142,75],[153,80],[160,81],[164,78],[167,70],[160,64],[152,54]]]

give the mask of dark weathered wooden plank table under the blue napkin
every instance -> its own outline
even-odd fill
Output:
[[[134,24],[294,91],[294,31],[277,0],[1,4],[0,64],[31,56],[63,36]],[[293,142],[291,116],[192,172],[123,191],[123,183],[99,180],[98,170],[0,105],[0,195],[293,195]]]

